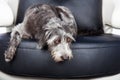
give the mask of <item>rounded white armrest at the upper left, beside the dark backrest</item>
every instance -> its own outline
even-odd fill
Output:
[[[13,24],[14,16],[10,6],[5,0],[0,1],[0,26],[10,26]]]

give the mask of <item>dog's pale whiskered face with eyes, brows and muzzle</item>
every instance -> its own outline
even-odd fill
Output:
[[[56,62],[60,62],[73,57],[70,45],[75,41],[74,37],[62,28],[52,29],[47,39],[48,48]]]

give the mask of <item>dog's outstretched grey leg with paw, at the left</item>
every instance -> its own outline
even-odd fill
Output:
[[[22,33],[23,33],[21,30],[22,26],[23,26],[22,23],[18,24],[17,26],[13,28],[13,31],[11,32],[11,39],[9,42],[9,46],[8,46],[8,49],[5,51],[6,62],[10,62],[13,59],[16,49],[21,42]]]

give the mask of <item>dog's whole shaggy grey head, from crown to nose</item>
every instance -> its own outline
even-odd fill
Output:
[[[70,45],[72,41],[75,41],[73,36],[77,33],[74,24],[71,25],[59,18],[52,18],[46,24],[44,30],[45,40],[53,59],[56,62],[71,59],[73,55]]]

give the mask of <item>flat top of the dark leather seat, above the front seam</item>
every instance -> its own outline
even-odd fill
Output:
[[[0,45],[7,47],[10,39],[10,33],[0,35]],[[112,34],[104,34],[101,36],[78,36],[76,41],[72,43],[72,48],[104,48],[119,47],[120,36]],[[37,49],[37,41],[35,39],[23,39],[19,48]]]

